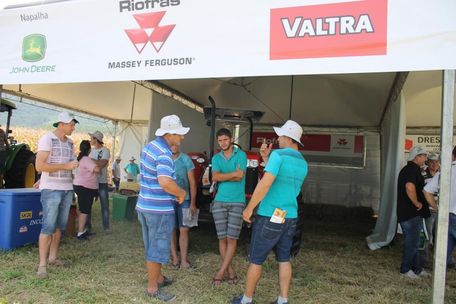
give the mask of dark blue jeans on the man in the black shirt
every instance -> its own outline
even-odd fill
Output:
[[[423,218],[416,216],[399,223],[404,234],[404,250],[402,252],[401,274],[412,270],[422,270],[421,261],[418,255],[420,247],[420,233],[423,230]]]

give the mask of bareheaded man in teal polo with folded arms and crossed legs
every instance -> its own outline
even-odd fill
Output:
[[[236,253],[243,222],[247,155],[244,151],[233,147],[230,130],[225,128],[218,130],[215,138],[221,151],[212,157],[212,181],[218,182],[212,214],[222,265],[210,283],[220,285],[226,272],[228,283],[237,284],[238,276],[233,270],[231,261]]]

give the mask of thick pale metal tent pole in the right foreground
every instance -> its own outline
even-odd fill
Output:
[[[453,147],[454,70],[443,70],[442,116],[440,133],[439,210],[437,212],[434,268],[432,274],[432,302],[443,304],[445,298],[446,248],[451,182],[451,150]]]

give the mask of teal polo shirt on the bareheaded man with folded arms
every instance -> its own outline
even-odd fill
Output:
[[[225,159],[223,151],[212,157],[212,171],[230,173],[236,171],[238,165],[241,165],[241,170],[247,169],[247,155],[237,148],[233,148],[233,154],[228,160]],[[240,181],[219,181],[215,200],[245,204],[245,175]]]

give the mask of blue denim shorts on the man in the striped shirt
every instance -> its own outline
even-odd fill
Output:
[[[171,250],[174,214],[150,214],[138,211],[138,219],[142,226],[146,259],[150,262],[167,264]]]

